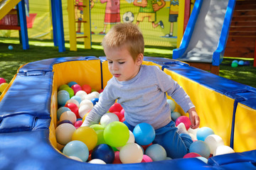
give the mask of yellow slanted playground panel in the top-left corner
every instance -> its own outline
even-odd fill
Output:
[[[21,0],[0,0],[0,20]]]

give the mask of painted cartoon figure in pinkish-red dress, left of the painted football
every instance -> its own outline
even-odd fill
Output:
[[[104,29],[100,34],[105,35],[107,24],[120,23],[120,0],[100,0],[102,4],[107,2],[105,8]]]

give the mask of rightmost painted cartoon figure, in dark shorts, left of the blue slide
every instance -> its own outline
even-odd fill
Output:
[[[169,22],[171,23],[171,26],[170,26],[170,33],[165,35],[167,38],[172,37],[174,35],[174,23],[177,22],[177,18],[178,18],[178,0],[171,0],[170,11],[169,11]]]

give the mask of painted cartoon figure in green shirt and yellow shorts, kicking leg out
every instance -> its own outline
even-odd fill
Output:
[[[144,18],[149,18],[149,22],[152,23],[153,28],[156,28],[157,26],[161,26],[161,28],[164,28],[164,23],[162,21],[159,21],[158,23],[155,23],[156,21],[156,11],[159,11],[159,9],[163,8],[165,6],[165,1],[160,0],[161,4],[157,4],[157,0],[142,0],[141,3],[138,2],[138,0],[134,0],[134,6],[139,6],[139,13],[137,16],[137,26],[140,22],[144,20]]]

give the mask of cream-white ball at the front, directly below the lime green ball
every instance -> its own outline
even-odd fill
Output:
[[[128,143],[120,149],[119,158],[123,164],[140,163],[143,159],[142,148],[136,143]]]

